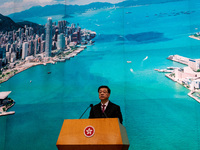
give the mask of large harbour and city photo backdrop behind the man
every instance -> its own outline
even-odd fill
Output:
[[[64,119],[99,103],[101,85],[130,150],[199,150],[199,6],[1,0],[0,92],[12,91],[15,114],[0,116],[0,150],[57,150]]]

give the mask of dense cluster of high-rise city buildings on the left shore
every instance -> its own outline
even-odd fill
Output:
[[[18,30],[0,32],[0,79],[6,81],[8,78],[5,73],[13,76],[27,69],[21,66],[23,64],[55,63],[74,57],[85,49],[83,45],[92,44],[91,39],[95,35],[95,32],[81,30],[79,25],[73,23],[67,26],[65,20],[57,24],[51,17],[47,19],[45,32],[40,34],[28,25]],[[18,64],[24,69],[17,69]]]

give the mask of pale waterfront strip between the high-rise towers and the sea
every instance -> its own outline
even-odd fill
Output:
[[[5,72],[2,72],[2,75],[0,77],[0,84],[4,83],[6,81],[8,81],[10,78],[14,77],[16,74],[23,72],[31,67],[35,67],[38,65],[46,65],[46,64],[55,64],[56,62],[65,62],[66,60],[69,60],[72,57],[75,57],[76,55],[78,55],[80,52],[82,52],[83,50],[85,50],[87,47],[86,46],[80,46],[75,50],[68,50],[65,51],[66,54],[65,57],[59,57],[58,56],[54,56],[52,58],[50,58],[49,61],[41,61],[41,62],[22,62],[24,64],[22,65],[18,65],[12,69],[8,69]],[[4,76],[3,76],[4,74]]]

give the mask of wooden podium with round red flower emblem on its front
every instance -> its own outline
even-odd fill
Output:
[[[128,136],[118,118],[64,120],[58,150],[128,150]]]

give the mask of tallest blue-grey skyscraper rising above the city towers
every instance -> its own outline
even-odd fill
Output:
[[[48,18],[46,24],[46,44],[45,44],[45,56],[51,57],[52,49],[52,19]]]

